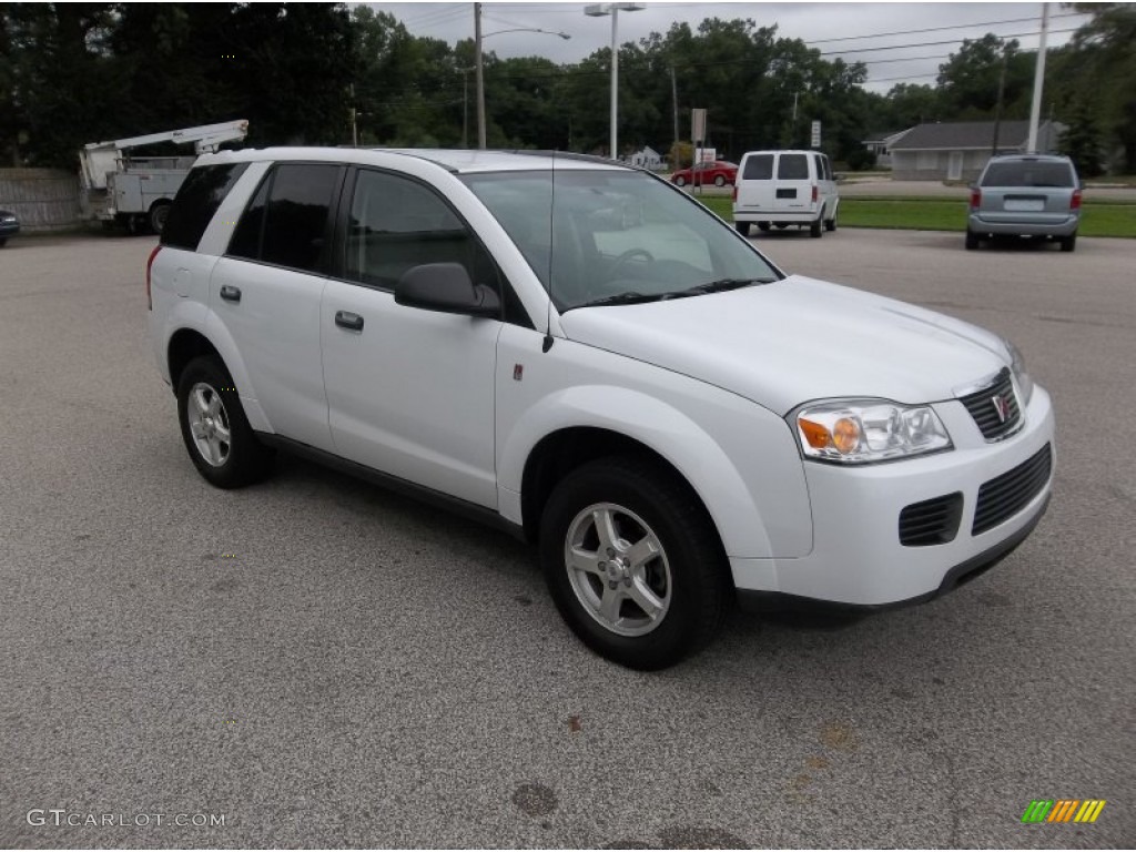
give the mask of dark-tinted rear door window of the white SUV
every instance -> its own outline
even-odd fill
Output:
[[[326,270],[328,215],[340,172],[323,164],[276,166],[233,232],[229,256],[307,273]]]

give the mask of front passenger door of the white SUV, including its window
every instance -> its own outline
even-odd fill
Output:
[[[402,274],[458,262],[499,287],[496,267],[429,186],[356,173],[342,278],[320,309],[324,384],[335,452],[481,506],[496,508],[494,373],[498,319],[394,302]]]

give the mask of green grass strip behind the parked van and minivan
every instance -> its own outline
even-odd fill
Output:
[[[728,198],[700,200],[726,222],[734,220]],[[844,198],[841,199],[840,220],[844,227],[961,233],[967,229],[967,203],[958,199]],[[1086,200],[1078,233],[1081,236],[1136,239],[1136,204]]]

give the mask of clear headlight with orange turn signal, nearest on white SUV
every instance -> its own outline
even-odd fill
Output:
[[[886,400],[811,402],[792,416],[805,458],[864,465],[950,450],[951,436],[929,406]]]

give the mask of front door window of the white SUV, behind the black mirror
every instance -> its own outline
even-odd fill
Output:
[[[501,291],[496,265],[433,190],[398,175],[360,170],[348,220],[348,279],[393,290],[421,264],[461,264],[475,284]]]

